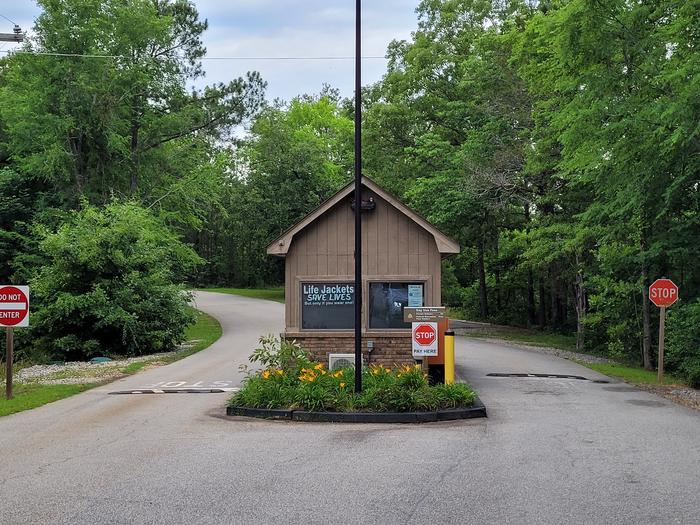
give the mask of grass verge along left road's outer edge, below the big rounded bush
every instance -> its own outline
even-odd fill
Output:
[[[222,329],[219,322],[210,315],[199,312],[195,324],[189,326],[185,330],[185,339],[189,343],[186,348],[165,356],[157,356],[150,360],[131,363],[122,368],[120,372],[122,374],[131,375],[151,364],[169,364],[178,361],[179,359],[183,359],[209,347],[221,337],[221,334]],[[15,383],[13,399],[7,400],[4,396],[0,398],[0,417],[37,408],[103,384],[99,376],[95,375],[94,371],[85,370],[81,371],[81,374],[82,373],[85,373],[85,375],[81,375],[80,377],[84,377],[85,382],[77,385]],[[66,374],[59,373],[56,375],[65,376]]]

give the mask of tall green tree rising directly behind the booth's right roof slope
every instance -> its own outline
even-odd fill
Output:
[[[399,155],[406,173],[394,187],[462,244],[474,246],[484,319],[490,315],[489,253],[497,258],[500,229],[522,220],[512,207],[513,196],[525,192],[519,178],[531,104],[509,56],[510,30],[529,12],[521,2],[421,2],[418,31],[411,42],[390,46],[389,71],[369,111],[369,135]],[[370,146],[369,154],[376,149]],[[391,181],[396,159],[378,158],[382,164],[375,156],[369,169]],[[434,206],[424,207],[429,203]],[[494,269],[498,303],[500,272]]]

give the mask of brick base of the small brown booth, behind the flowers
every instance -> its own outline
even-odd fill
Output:
[[[328,364],[328,354],[354,354],[355,339],[353,336],[304,336],[282,334],[289,340],[294,340],[308,350],[316,361]],[[372,352],[368,351],[367,342],[373,341]],[[362,359],[364,363],[381,364],[387,367],[415,364],[411,353],[411,334],[406,336],[373,336],[362,338]]]

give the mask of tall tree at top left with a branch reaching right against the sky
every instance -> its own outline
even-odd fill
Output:
[[[40,6],[36,37],[2,64],[0,147],[19,173],[53,184],[68,206],[114,196],[152,202],[206,164],[207,152],[262,102],[257,73],[188,91],[203,75],[207,28],[189,1]]]

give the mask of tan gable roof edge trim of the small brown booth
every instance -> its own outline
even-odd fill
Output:
[[[403,202],[401,202],[398,198],[394,197],[391,195],[389,192],[381,188],[379,185],[377,185],[374,181],[369,179],[368,177],[362,176],[362,185],[367,188],[368,190],[374,192],[379,196],[381,199],[385,200],[388,202],[391,206],[396,208],[398,211],[403,213],[405,216],[407,216],[409,219],[411,219],[413,222],[421,226],[423,229],[425,229],[428,233],[430,233],[433,238],[435,239],[435,244],[437,245],[437,249],[441,254],[454,254],[454,253],[459,253],[459,244],[457,244],[456,241],[442,233],[440,230],[438,230],[435,226],[433,226],[430,222],[428,222],[424,217],[413,211],[411,208],[406,206]],[[279,257],[284,257],[287,255],[287,252],[289,251],[289,248],[292,245],[292,240],[294,239],[294,236],[304,230],[307,226],[309,226],[311,223],[319,219],[322,215],[330,211],[333,206],[338,204],[340,201],[348,197],[352,192],[355,191],[355,183],[351,182],[347,186],[345,186],[343,189],[338,191],[335,195],[333,195],[330,199],[326,200],[325,202],[321,203],[318,208],[316,208],[314,211],[309,213],[306,217],[304,217],[301,221],[296,223],[294,226],[289,228],[286,232],[284,232],[281,236],[279,236],[277,239],[272,241],[268,247],[267,247],[267,253],[269,255],[277,255]]]

